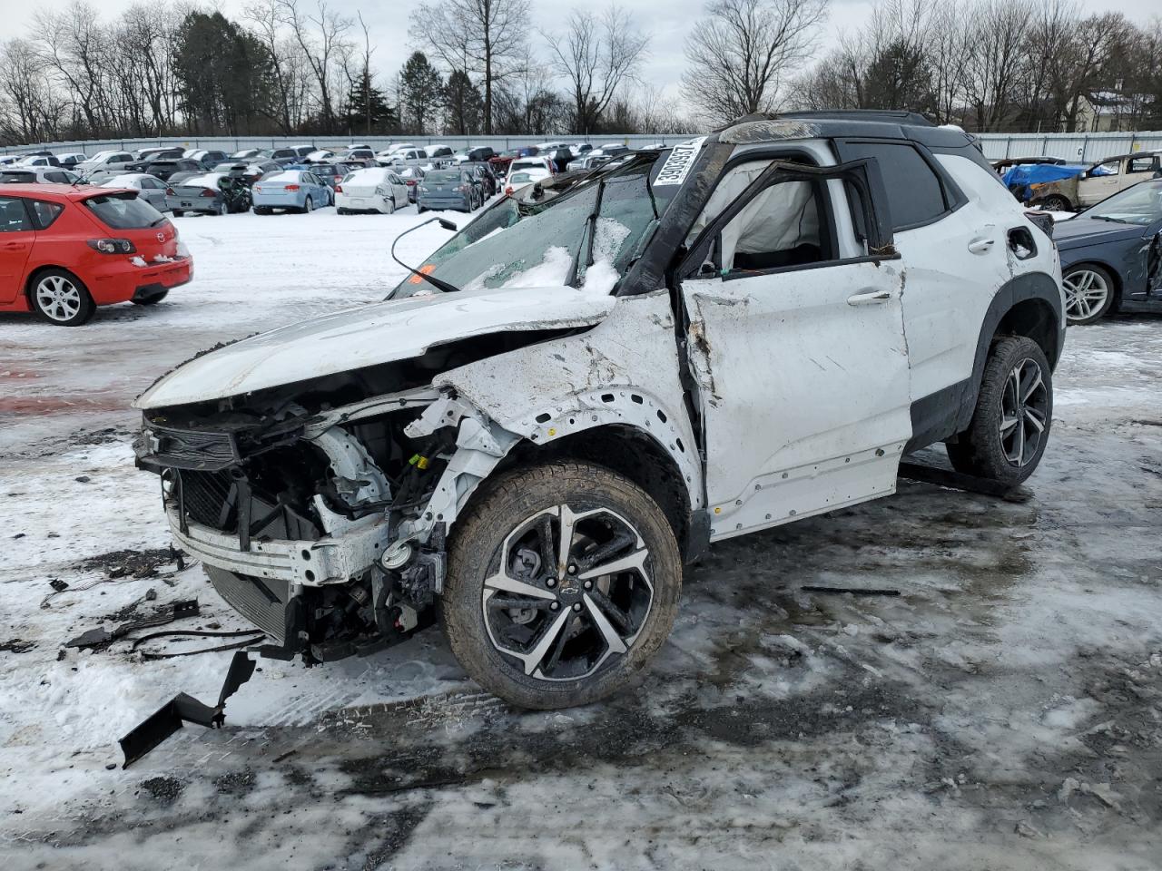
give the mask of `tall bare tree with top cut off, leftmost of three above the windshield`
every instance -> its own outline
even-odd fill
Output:
[[[493,132],[497,86],[526,58],[530,0],[439,0],[411,14],[410,35],[451,70],[476,73],[485,87],[485,135]]]

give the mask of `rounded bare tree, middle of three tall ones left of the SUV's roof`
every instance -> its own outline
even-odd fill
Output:
[[[601,15],[574,9],[562,35],[543,36],[552,69],[569,82],[573,131],[594,131],[623,82],[637,79],[650,36],[616,5]]]

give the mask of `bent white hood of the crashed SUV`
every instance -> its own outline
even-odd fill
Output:
[[[572,287],[436,293],[373,303],[281,326],[179,366],[134,403],[156,409],[206,402],[366,366],[407,360],[456,339],[588,326],[614,296]]]

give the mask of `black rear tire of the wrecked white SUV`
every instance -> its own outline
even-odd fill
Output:
[[[1035,382],[1030,366],[1037,367],[1039,382]],[[1019,390],[1018,383],[1012,381],[1018,367],[1023,367],[1017,375]],[[1031,384],[1032,388],[1028,387]],[[1027,404],[1025,401],[1014,404],[1014,398],[1026,389],[1031,394]],[[1007,426],[1005,434],[1002,424],[1014,417],[1016,429]],[[1041,462],[1052,425],[1053,373],[1045,352],[1024,336],[1002,338],[989,351],[973,420],[955,442],[948,442],[948,459],[956,472],[1017,485],[1032,475]],[[1034,437],[1031,446],[1028,442]],[[1021,440],[1019,446],[1017,438]]]

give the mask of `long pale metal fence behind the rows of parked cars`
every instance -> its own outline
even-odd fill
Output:
[[[561,134],[551,138],[557,142],[586,142],[594,145],[618,143],[633,147],[643,147],[660,143],[673,145],[701,134],[604,134],[601,136],[580,136]],[[444,144],[454,150],[466,145],[490,145],[496,151],[529,145],[536,137],[531,136],[191,136],[162,137],[158,139],[89,139],[87,142],[49,142],[40,145],[20,145],[2,147],[0,152],[17,154],[29,151],[49,149],[55,152],[83,151],[92,154],[105,149],[132,151],[153,145],[181,145],[187,149],[215,149],[228,153],[241,149],[270,149],[286,145],[318,145],[320,147],[340,147],[349,144],[368,145],[376,151],[397,142],[410,142],[416,145]],[[1060,157],[1076,163],[1096,163],[1114,154],[1132,151],[1150,151],[1162,149],[1162,131],[1142,131],[1125,134],[978,134],[977,139],[990,160],[1006,157]]]

